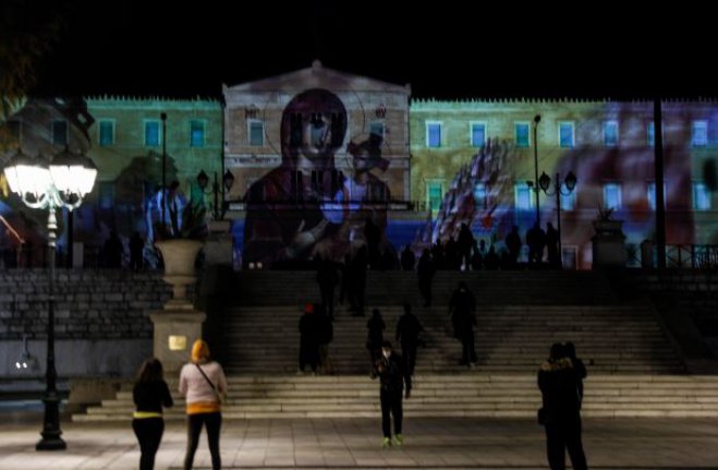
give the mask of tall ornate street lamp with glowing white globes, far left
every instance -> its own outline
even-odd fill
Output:
[[[54,254],[56,230],[58,221],[56,210],[66,207],[69,210],[80,207],[83,197],[95,184],[97,168],[93,161],[71,153],[68,147],[56,155],[49,167],[45,162],[32,160],[22,150],[4,168],[10,190],[17,194],[23,203],[37,209],[48,209],[47,246],[48,246],[48,321],[47,321],[47,371],[42,402],[45,419],[42,438],[37,450],[62,450],[65,442],[60,437],[60,398],[57,389],[58,373],[54,369]]]

